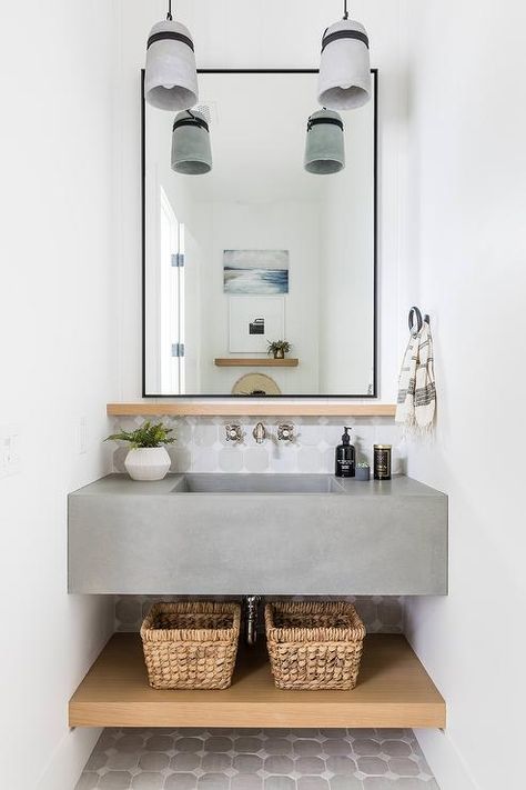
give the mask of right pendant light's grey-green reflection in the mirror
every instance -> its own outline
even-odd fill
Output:
[[[343,121],[334,110],[317,110],[307,121],[305,170],[317,176],[337,173],[345,167]]]

